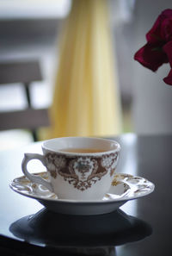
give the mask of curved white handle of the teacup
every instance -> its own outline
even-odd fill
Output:
[[[28,162],[32,159],[38,159],[40,160],[40,162],[46,166],[46,160],[44,158],[43,155],[41,155],[40,153],[25,153],[24,154],[24,158],[22,159],[22,172],[26,175],[26,177],[36,183],[36,184],[42,184],[44,185],[48,190],[53,192],[53,188],[52,188],[52,184],[48,181],[46,181],[43,178],[40,178],[40,176],[36,176],[34,174],[31,174],[28,172]]]

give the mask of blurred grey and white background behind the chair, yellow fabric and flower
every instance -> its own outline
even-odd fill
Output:
[[[145,34],[157,16],[163,9],[172,8],[172,4],[168,0],[107,2],[120,91],[120,134],[169,134],[172,88],[163,83],[169,66],[153,73],[134,61],[133,55],[145,44]],[[33,59],[40,64],[42,80],[30,86],[34,109],[49,108],[52,104],[58,34],[70,10],[71,0],[0,0],[0,64]],[[27,104],[20,83],[0,84],[1,112],[25,109]],[[31,141],[32,134],[27,129],[0,131],[0,150]]]

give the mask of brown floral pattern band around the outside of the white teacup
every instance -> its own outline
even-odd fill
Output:
[[[64,158],[57,153],[46,154],[46,168],[52,178],[62,176],[65,181],[72,184],[77,190],[87,190],[101,180],[109,172],[114,175],[118,153],[111,153],[102,157],[81,156]]]

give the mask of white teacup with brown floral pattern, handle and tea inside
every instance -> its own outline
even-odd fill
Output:
[[[46,140],[43,155],[25,153],[22,172],[36,184],[44,185],[59,199],[99,200],[114,179],[120,144],[114,140],[62,137]],[[39,159],[46,166],[49,181],[28,172],[28,162]]]

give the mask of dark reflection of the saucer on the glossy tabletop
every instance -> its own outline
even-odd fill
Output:
[[[65,253],[108,255],[115,246],[151,235],[151,225],[120,209],[106,215],[61,215],[41,209],[12,223],[17,238],[40,247],[56,247]],[[97,254],[98,255],[98,254]],[[112,254],[111,254],[112,255]]]

